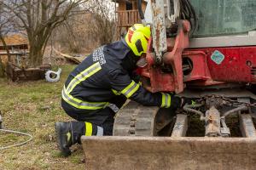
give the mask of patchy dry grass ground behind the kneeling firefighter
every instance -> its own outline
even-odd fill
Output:
[[[23,146],[0,150],[0,169],[84,169],[81,146],[62,157],[55,144],[54,123],[70,118],[61,109],[61,88],[74,65],[61,66],[61,81],[14,83],[0,79],[0,111],[3,127],[33,135]],[[0,133],[0,147],[19,143],[26,137]]]

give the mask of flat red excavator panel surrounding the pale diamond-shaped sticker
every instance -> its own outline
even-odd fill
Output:
[[[256,76],[253,75],[253,69],[256,68],[256,47],[203,48],[200,50],[207,54],[207,65],[212,80],[220,82],[256,82]],[[216,50],[224,55],[220,64],[211,59]]]

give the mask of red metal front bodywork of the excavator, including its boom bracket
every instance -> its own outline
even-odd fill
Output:
[[[152,39],[148,44],[148,65],[139,72],[150,80],[148,89],[152,92],[166,91],[180,93],[184,85],[210,86],[224,83],[256,82],[256,46],[230,48],[186,49],[188,27],[186,22],[179,27],[175,42],[167,39],[168,52],[164,55],[165,65],[172,71],[162,70],[162,65],[154,64]],[[181,29],[183,28],[183,29]],[[187,28],[187,29],[186,29]],[[193,69],[183,75],[182,58],[189,58]],[[184,86],[184,87],[185,87]]]

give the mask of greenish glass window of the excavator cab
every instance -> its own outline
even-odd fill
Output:
[[[247,34],[256,30],[255,0],[190,0],[199,26],[194,37]]]

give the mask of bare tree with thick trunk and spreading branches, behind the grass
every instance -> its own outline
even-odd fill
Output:
[[[30,43],[30,64],[41,65],[51,32],[73,14],[83,13],[87,0],[2,0],[15,16],[14,27],[25,29]],[[2,4],[2,3],[1,3]]]

